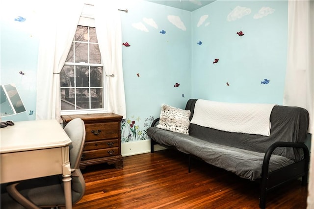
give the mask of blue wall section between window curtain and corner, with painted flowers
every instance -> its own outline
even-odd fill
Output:
[[[191,98],[191,12],[145,1],[128,9],[121,13],[122,40],[131,45],[122,48],[127,103],[123,142],[148,139],[145,130],[159,117],[163,103],[184,108]]]

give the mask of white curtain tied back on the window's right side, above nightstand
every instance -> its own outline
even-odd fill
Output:
[[[126,118],[121,19],[115,1],[95,1],[96,34],[106,74],[107,110]],[[113,76],[111,76],[113,75]]]

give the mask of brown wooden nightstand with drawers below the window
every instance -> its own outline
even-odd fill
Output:
[[[84,121],[86,129],[79,167],[108,163],[114,164],[116,168],[122,168],[120,131],[122,116],[113,113],[61,116],[65,124],[77,117]]]

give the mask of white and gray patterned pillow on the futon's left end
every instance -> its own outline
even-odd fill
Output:
[[[188,134],[191,111],[182,110],[166,104],[161,106],[157,128]]]

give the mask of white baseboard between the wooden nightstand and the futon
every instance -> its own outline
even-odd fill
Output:
[[[154,150],[163,150],[164,147],[155,145]],[[151,140],[140,140],[121,143],[121,154],[123,157],[138,155],[143,153],[151,152]]]

